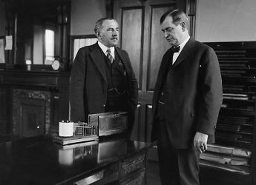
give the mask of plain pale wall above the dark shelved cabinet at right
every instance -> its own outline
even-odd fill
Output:
[[[198,41],[256,41],[256,0],[197,0]]]

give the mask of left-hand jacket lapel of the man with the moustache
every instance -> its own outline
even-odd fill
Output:
[[[91,59],[93,61],[93,63],[95,64],[95,66],[97,67],[97,69],[99,70],[99,73],[101,73],[102,77],[104,78],[105,81],[107,81],[107,75],[105,73],[105,70],[104,70],[104,62],[105,60],[102,60],[102,53],[101,53],[101,49],[98,45],[98,43],[96,44],[93,44],[91,46]]]

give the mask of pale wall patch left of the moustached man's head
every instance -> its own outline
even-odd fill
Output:
[[[105,0],[72,0],[70,35],[94,34],[96,21],[105,16]]]

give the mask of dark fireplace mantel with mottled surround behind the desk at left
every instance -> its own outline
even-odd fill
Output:
[[[69,73],[0,71],[0,79],[1,135],[53,134],[68,119]]]

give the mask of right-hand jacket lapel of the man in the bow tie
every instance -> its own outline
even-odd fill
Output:
[[[174,62],[172,67],[176,67],[178,64],[180,64],[182,61],[184,61],[188,55],[192,53],[194,50],[194,38],[189,38],[186,45],[183,47],[183,50],[181,51],[180,55],[178,56],[177,60]]]

